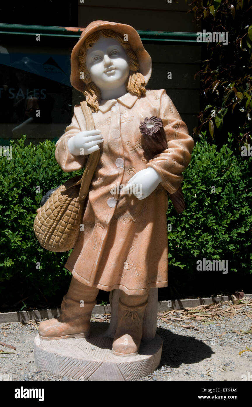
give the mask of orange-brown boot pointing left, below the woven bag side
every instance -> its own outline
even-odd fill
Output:
[[[60,316],[41,322],[39,337],[45,340],[87,337],[98,292],[99,289],[88,287],[72,277],[69,290],[63,297]]]

